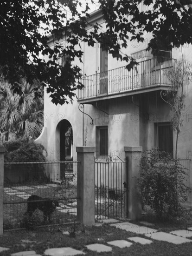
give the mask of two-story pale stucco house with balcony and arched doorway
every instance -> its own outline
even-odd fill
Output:
[[[90,15],[91,22],[105,23],[101,11]],[[91,29],[88,27],[87,29]],[[182,57],[192,61],[192,45],[162,51],[160,58],[146,51],[150,34],[143,43],[130,42],[126,54],[139,65],[128,71],[126,62],[113,59],[99,44],[82,43],[83,90],[73,104],[54,105],[45,91],[45,123],[37,141],[47,149],[48,161],[77,159],[77,146],[96,147],[98,159],[108,155],[124,158],[124,146],[142,146],[143,151],[160,148],[174,155],[176,134],[172,129],[170,106],[163,95],[171,83],[165,71]],[[50,44],[51,44],[50,40]],[[192,79],[185,80],[183,127],[178,157],[192,158]],[[71,132],[72,128],[72,132]],[[192,161],[188,161],[187,186],[192,188]],[[189,202],[192,200],[189,196]]]

